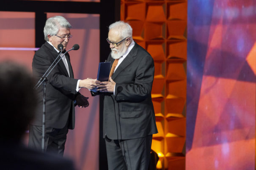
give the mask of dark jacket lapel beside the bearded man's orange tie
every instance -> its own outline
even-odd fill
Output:
[[[112,75],[112,79],[114,80],[120,72],[122,72],[123,69],[125,69],[129,64],[132,63],[134,60],[133,57],[136,56],[138,51],[137,43],[135,43],[134,47],[132,50],[129,52],[129,54],[124,58],[124,60],[121,62],[121,64],[117,67],[116,71]]]

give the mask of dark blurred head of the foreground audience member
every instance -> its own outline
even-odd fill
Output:
[[[34,81],[11,61],[0,63],[0,141],[20,141],[36,109]]]

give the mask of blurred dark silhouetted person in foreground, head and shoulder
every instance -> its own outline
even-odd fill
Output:
[[[22,138],[34,117],[35,82],[24,66],[0,63],[0,169],[74,170],[69,159],[28,149]]]

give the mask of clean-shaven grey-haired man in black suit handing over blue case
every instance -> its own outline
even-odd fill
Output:
[[[63,45],[63,51],[66,51],[69,39],[72,37],[70,28],[71,25],[62,16],[47,19],[44,26],[46,42],[36,51],[32,62],[33,75],[36,80],[41,78],[60,53],[59,44]],[[63,56],[47,79],[44,151],[63,155],[68,129],[74,129],[74,101],[80,107],[87,107],[89,104],[88,98],[81,95],[78,90],[95,88],[99,85],[99,81],[74,79],[69,53]],[[41,85],[38,88],[39,104],[36,117],[29,129],[28,144],[37,149],[41,149],[43,90],[43,85]]]

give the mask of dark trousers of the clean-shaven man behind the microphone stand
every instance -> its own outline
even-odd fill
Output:
[[[63,156],[68,126],[62,129],[45,128],[44,132],[44,151]],[[42,149],[42,127],[30,125],[28,147],[33,149]]]

